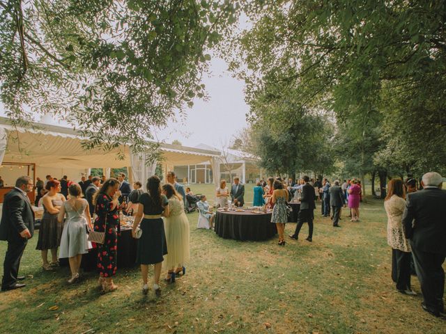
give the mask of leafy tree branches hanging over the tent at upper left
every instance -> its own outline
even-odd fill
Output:
[[[13,125],[52,113],[86,148],[147,145],[205,94],[201,73],[233,1],[0,1],[1,102]]]

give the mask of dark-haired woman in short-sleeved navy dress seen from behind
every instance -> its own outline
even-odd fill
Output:
[[[160,296],[160,274],[164,255],[167,254],[166,235],[164,234],[164,223],[162,216],[169,216],[169,201],[162,195],[160,179],[152,176],[147,180],[148,193],[139,196],[138,212],[134,218],[132,235],[136,236],[136,230],[141,222],[142,235],[138,241],[137,262],[141,264],[141,274],[144,285],[143,294],[147,294],[148,265],[155,264],[155,275],[153,276],[153,290]]]

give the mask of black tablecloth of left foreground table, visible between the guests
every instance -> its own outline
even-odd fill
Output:
[[[82,256],[81,267],[84,271],[96,269],[98,248],[92,248]],[[132,229],[123,230],[118,235],[118,270],[133,267],[137,260],[137,239],[132,237]],[[60,259],[61,266],[68,265],[68,259]]]

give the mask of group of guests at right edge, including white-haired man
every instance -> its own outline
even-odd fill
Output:
[[[413,261],[423,294],[422,309],[440,317],[445,313],[446,191],[443,177],[435,172],[424,174],[421,184],[420,191],[413,179],[392,179],[388,184],[384,207],[392,280],[402,294],[415,295],[410,286]]]

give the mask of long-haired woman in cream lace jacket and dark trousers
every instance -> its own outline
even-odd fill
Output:
[[[387,244],[392,247],[392,280],[401,294],[415,295],[410,289],[410,244],[403,230],[406,191],[403,180],[392,179],[384,200],[387,213]]]

